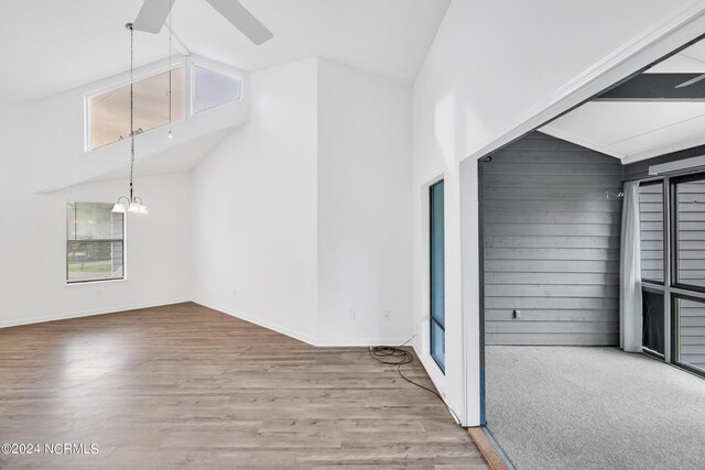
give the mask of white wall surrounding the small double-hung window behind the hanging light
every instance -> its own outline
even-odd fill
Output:
[[[47,157],[33,145],[36,110],[36,105],[0,105],[0,199],[7,209],[0,229],[0,326],[189,299],[188,175],[135,182],[152,214],[128,218],[127,281],[66,285],[66,203],[111,203],[126,193],[127,181],[32,194],[35,170]]]

